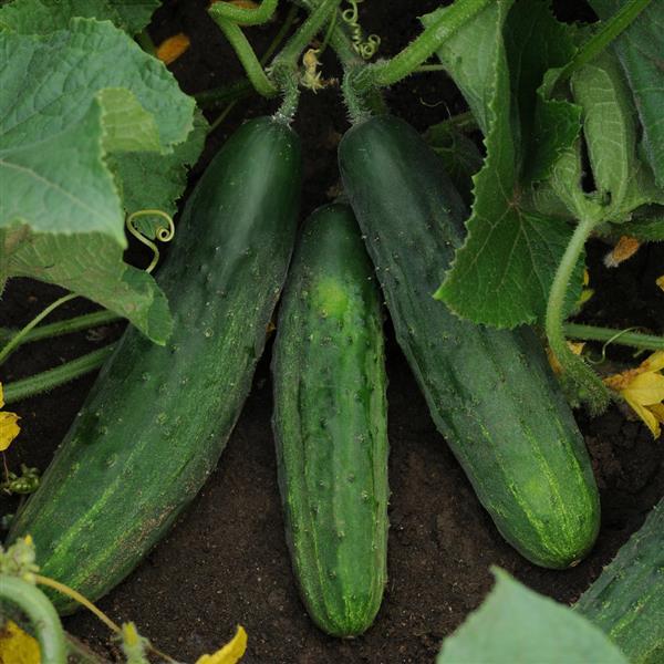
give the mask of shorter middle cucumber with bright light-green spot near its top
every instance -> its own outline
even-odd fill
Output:
[[[279,486],[302,599],[317,625],[373,622],[387,557],[387,405],[381,300],[350,207],[308,220],[273,351]]]

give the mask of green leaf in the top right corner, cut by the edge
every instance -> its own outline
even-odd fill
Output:
[[[609,19],[626,1],[590,0],[590,4],[601,19]],[[664,188],[664,0],[653,0],[613,48],[636,102],[649,164]]]

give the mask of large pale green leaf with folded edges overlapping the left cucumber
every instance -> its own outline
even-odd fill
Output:
[[[80,18],[45,35],[0,32],[0,276],[64,286],[164,343],[165,295],[152,277],[128,277],[122,262],[123,187],[110,159],[152,154],[158,168],[159,155],[173,155],[189,135],[194,101],[125,33]],[[85,237],[94,251],[84,250]]]

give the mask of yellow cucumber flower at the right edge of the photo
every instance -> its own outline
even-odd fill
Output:
[[[656,351],[636,369],[604,378],[606,386],[627,402],[655,438],[660,437],[664,424],[663,371],[664,351]]]

